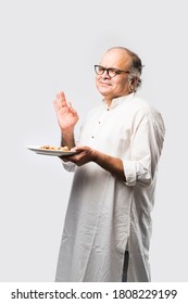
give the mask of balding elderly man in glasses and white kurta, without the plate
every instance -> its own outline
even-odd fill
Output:
[[[75,145],[77,112],[64,92],[54,109],[63,159],[74,172],[55,281],[150,281],[149,244],[156,172],[164,140],[161,114],[136,92],[142,64],[115,47],[95,65],[102,101],[90,111]]]

